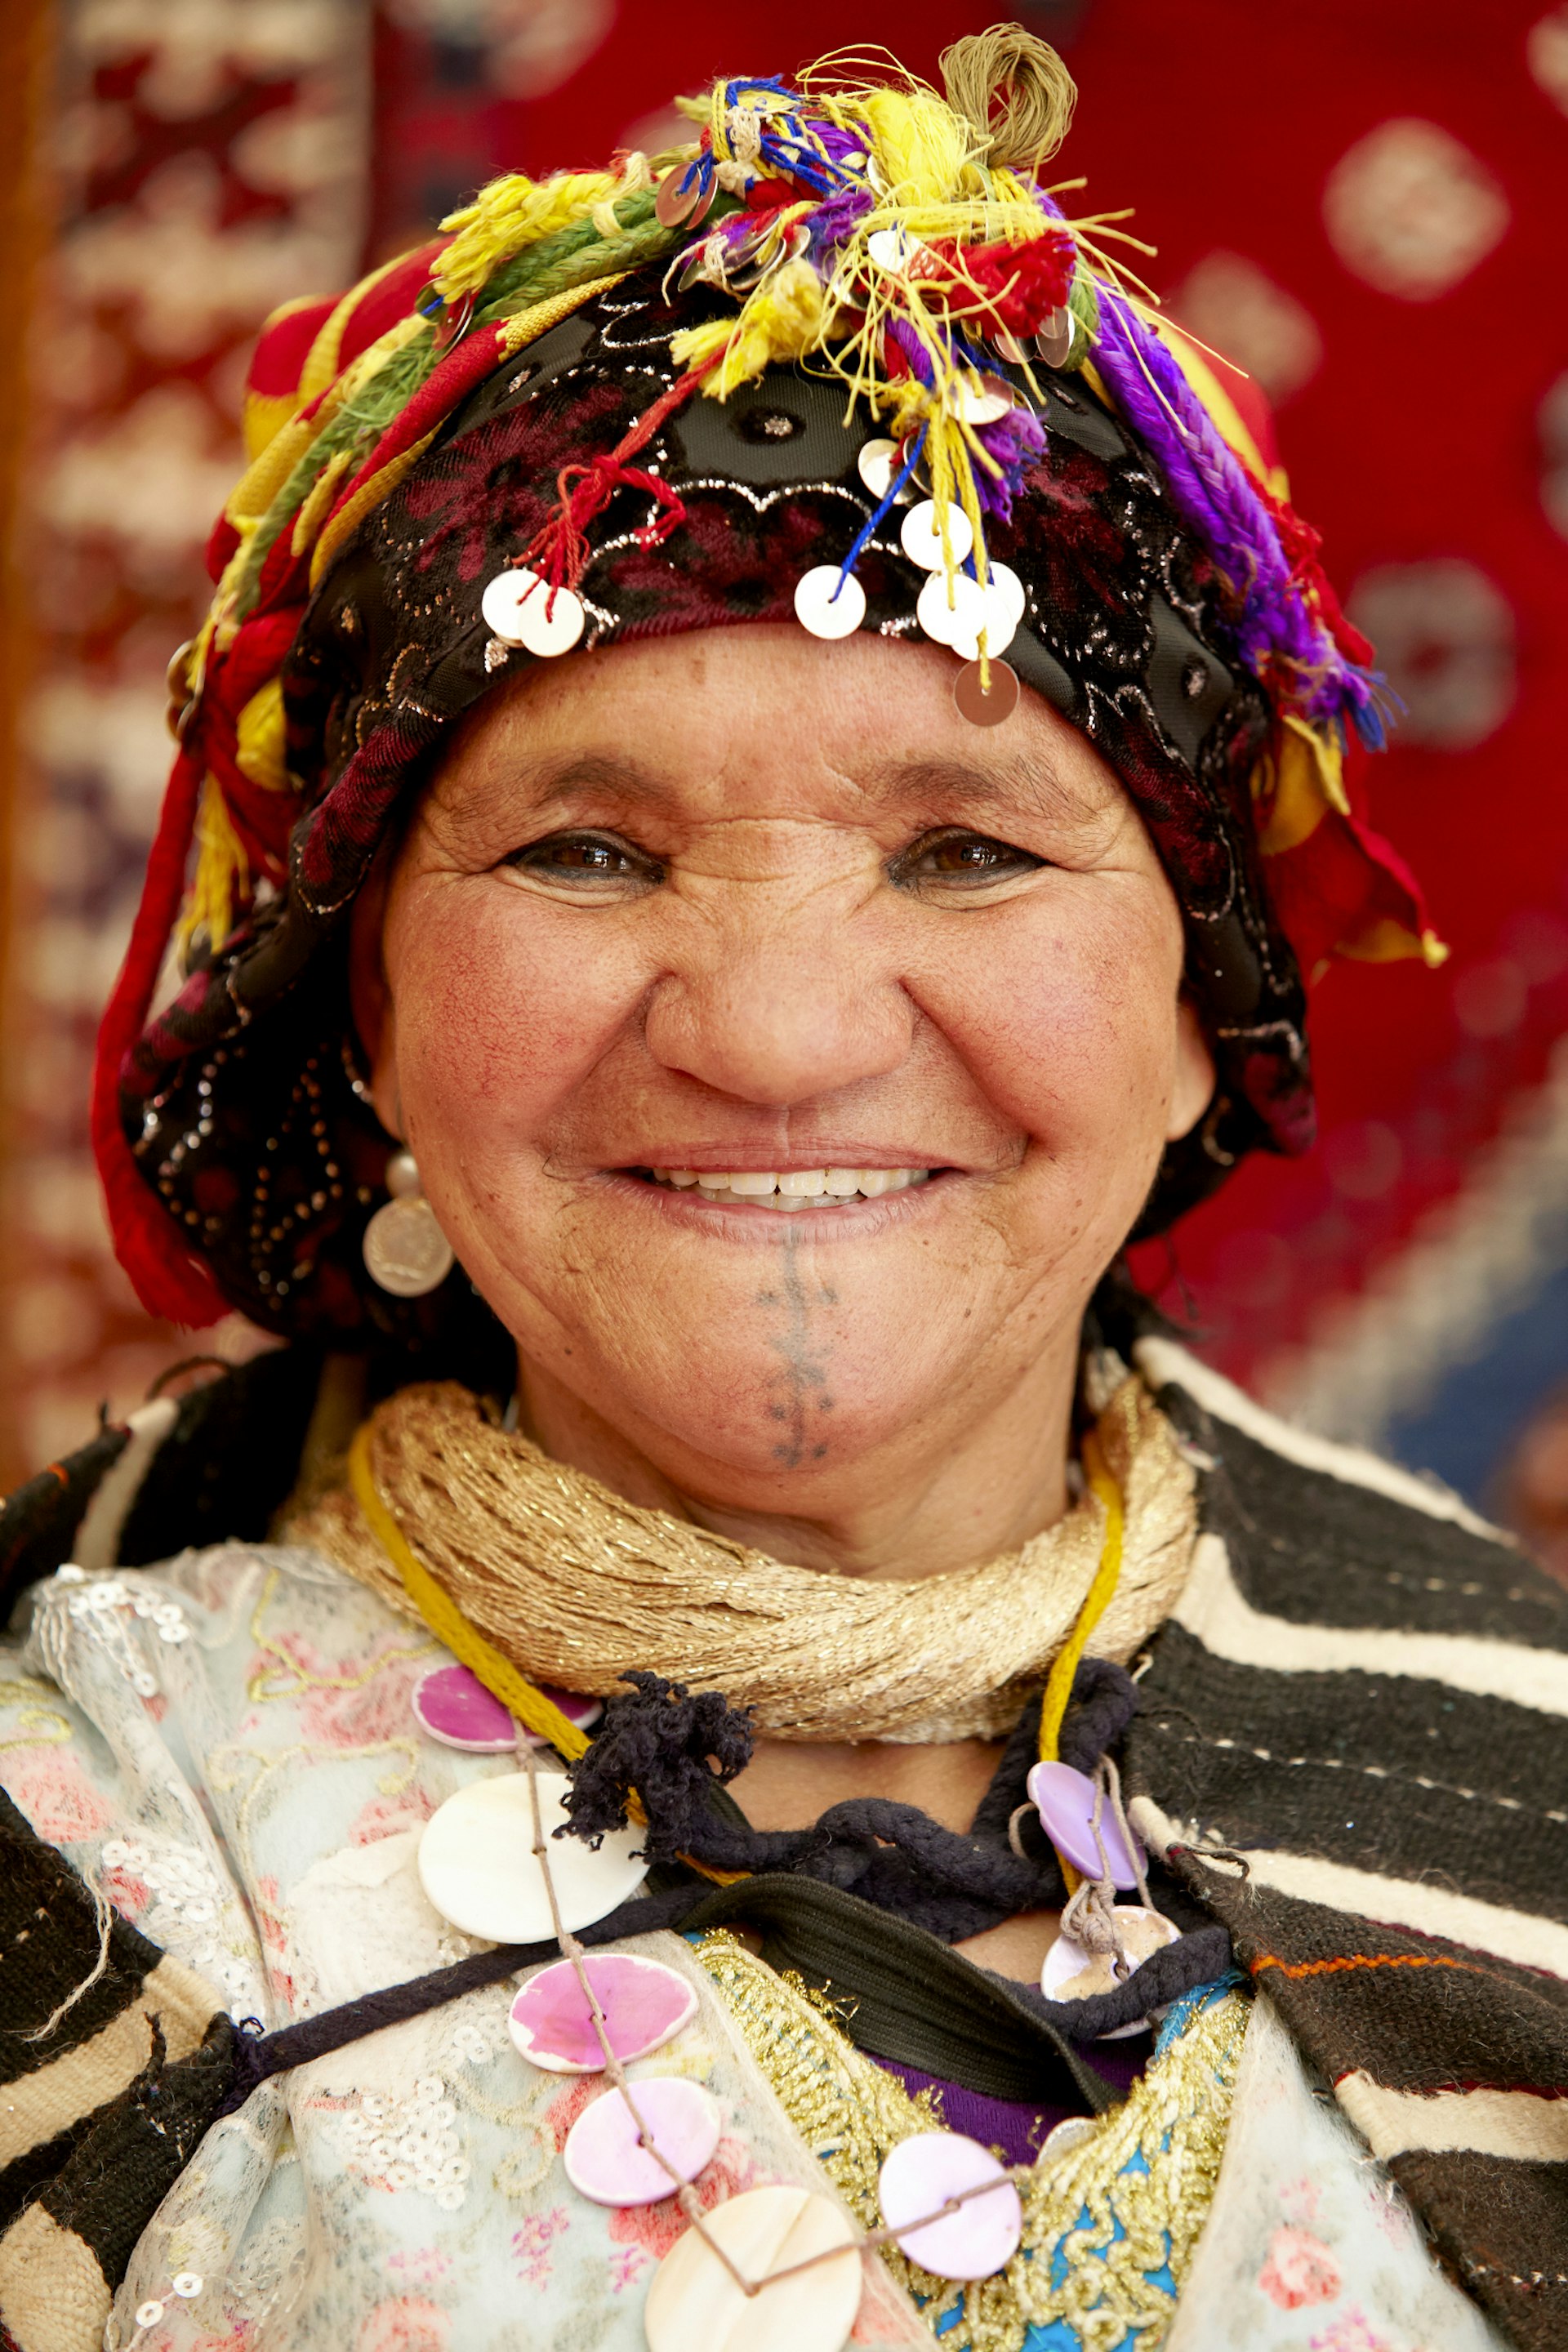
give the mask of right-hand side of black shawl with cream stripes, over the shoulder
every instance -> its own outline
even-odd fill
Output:
[[[1441,1489],[1138,1364],[1201,1536],[1126,1738],[1133,1818],[1232,1933],[1434,2249],[1568,2345],[1568,1595]]]

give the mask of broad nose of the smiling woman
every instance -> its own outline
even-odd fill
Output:
[[[853,929],[820,903],[717,924],[654,990],[654,1061],[773,1108],[886,1077],[910,1051],[914,1007],[891,971],[867,969]]]

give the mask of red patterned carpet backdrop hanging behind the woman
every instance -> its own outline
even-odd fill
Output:
[[[1443,971],[1316,1002],[1321,1148],[1253,1162],[1145,1282],[1229,1371],[1568,1543],[1568,5],[1058,0],[1060,176],[1131,205],[1175,315],[1269,393],[1298,503],[1403,703],[1380,826]],[[9,1468],[190,1343],[106,1263],[85,1056],[162,781],[162,663],[235,473],[244,341],[489,174],[654,148],[668,96],[990,7],[59,0],[24,576]],[[219,1352],[247,1334],[223,1327]],[[202,1338],[197,1345],[214,1345]]]

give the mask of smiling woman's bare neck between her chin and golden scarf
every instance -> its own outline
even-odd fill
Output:
[[[628,1503],[668,1510],[773,1559],[870,1581],[910,1581],[1016,1550],[1067,1510],[1067,1439],[1077,1334],[1044,1352],[1025,1381],[950,1425],[900,1430],[830,1470],[757,1482],[726,1463],[656,1461],[639,1444],[522,1359],[520,1421],[545,1454],[585,1470]],[[961,1406],[961,1399],[954,1399]]]

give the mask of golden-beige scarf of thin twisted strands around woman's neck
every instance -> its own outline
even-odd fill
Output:
[[[1091,1651],[1126,1663],[1171,1613],[1197,1534],[1192,1470],[1138,1378],[1100,1416],[1124,1566]],[[1009,1731],[1074,1625],[1105,1512],[1086,1494],[1020,1550],[910,1583],[785,1566],[498,1430],[465,1388],[404,1388],[371,1416],[376,1484],[463,1616],[534,1682],[609,1693],[625,1668],[724,1691],[780,1740],[959,1740]],[[348,1486],[296,1515],[308,1543],[414,1616]]]

